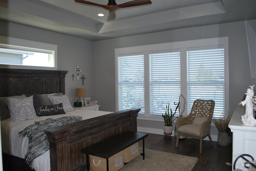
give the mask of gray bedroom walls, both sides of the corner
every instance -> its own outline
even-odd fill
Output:
[[[255,32],[256,20],[251,20],[249,23]],[[87,97],[91,97],[92,100],[97,99],[101,105],[100,110],[104,111],[115,111],[116,106],[114,48],[228,36],[230,114],[244,97],[248,86],[256,84],[256,79],[250,77],[245,22],[183,28],[97,42],[6,23],[2,20],[0,26],[1,36],[57,44],[58,70],[69,71],[66,76],[66,94],[70,101],[76,99],[74,96],[77,87],[85,87]],[[81,74],[86,77],[85,85],[82,85],[82,80],[72,81],[71,75],[76,74],[74,69],[77,65],[82,69]],[[138,120],[138,126],[162,129],[162,122]],[[212,128],[211,134],[217,134],[215,127]]]

